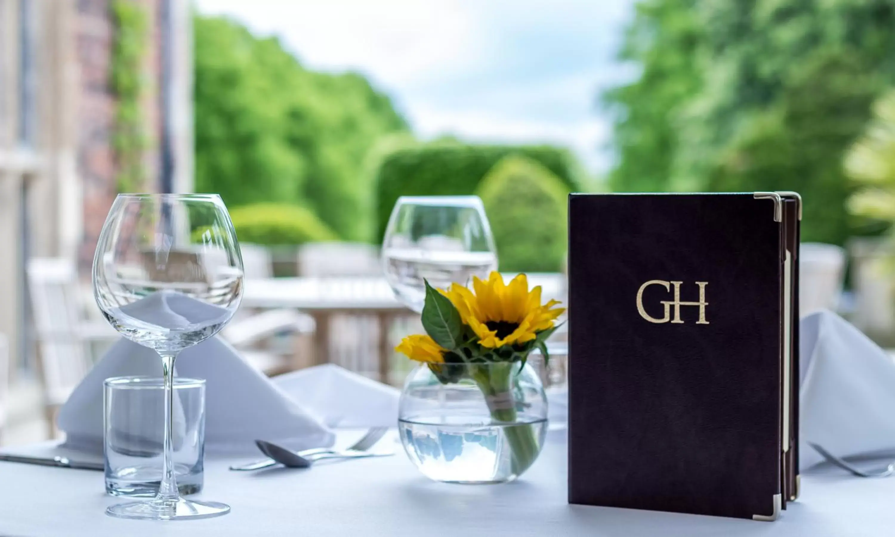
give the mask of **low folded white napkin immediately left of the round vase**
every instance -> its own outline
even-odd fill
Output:
[[[397,423],[399,390],[338,365],[281,374],[273,382],[329,427],[394,427]]]

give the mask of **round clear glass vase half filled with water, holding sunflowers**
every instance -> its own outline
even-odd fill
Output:
[[[532,466],[547,432],[547,397],[519,362],[418,365],[398,410],[407,456],[439,482],[509,482]]]

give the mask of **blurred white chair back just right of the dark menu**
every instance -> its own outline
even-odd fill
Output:
[[[798,308],[805,316],[819,309],[836,311],[845,278],[845,250],[805,242],[799,248]]]

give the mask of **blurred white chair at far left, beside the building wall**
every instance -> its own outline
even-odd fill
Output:
[[[69,259],[32,258],[27,267],[31,315],[38,343],[38,373],[50,435],[55,412],[93,365],[89,345],[120,336],[105,321],[87,321],[78,273]]]

